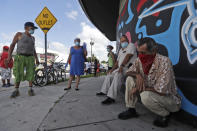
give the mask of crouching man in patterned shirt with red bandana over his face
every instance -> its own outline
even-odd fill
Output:
[[[181,107],[177,94],[173,67],[168,57],[156,53],[157,44],[152,38],[138,42],[139,56],[127,71],[125,101],[129,109],[119,114],[119,119],[137,117],[135,105],[140,94],[143,105],[158,115],[153,124],[167,127],[170,112]]]

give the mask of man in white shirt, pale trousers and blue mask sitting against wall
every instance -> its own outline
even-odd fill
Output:
[[[117,61],[106,76],[101,92],[97,93],[97,95],[107,94],[107,99],[102,104],[112,104],[115,102],[118,89],[124,82],[126,71],[137,57],[135,45],[129,43],[125,35],[120,38],[120,44],[122,48],[119,51]]]

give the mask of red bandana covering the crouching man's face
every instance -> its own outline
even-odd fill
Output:
[[[142,63],[142,68],[143,68],[144,74],[148,75],[149,70],[155,60],[155,56],[156,56],[156,54],[154,54],[154,55],[139,54],[138,55],[138,57]]]

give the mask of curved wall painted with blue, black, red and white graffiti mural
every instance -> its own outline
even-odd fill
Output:
[[[182,109],[197,116],[196,0],[120,1],[117,41],[123,34],[133,43],[142,37],[154,38],[159,52],[167,55],[174,65],[180,81],[178,91],[182,96]]]

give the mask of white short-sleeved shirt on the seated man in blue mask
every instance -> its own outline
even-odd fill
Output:
[[[136,47],[133,43],[129,43],[129,45],[127,46],[127,48],[125,49],[120,49],[119,54],[118,54],[118,66],[120,67],[122,62],[124,61],[126,55],[128,54],[132,54],[132,58],[130,59],[130,61],[125,65],[125,67],[128,67],[129,64],[133,64],[134,60],[137,58],[137,52],[136,52]]]

